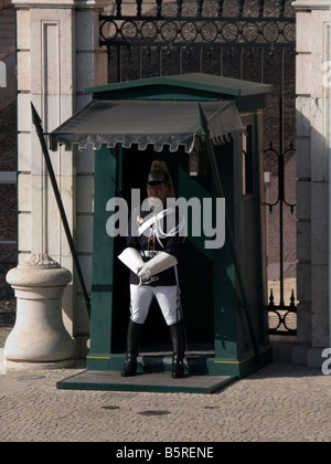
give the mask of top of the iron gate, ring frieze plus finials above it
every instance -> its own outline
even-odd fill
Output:
[[[100,44],[145,46],[292,46],[296,40],[295,17],[285,17],[286,1],[278,11],[267,9],[264,1],[238,0],[237,12],[224,8],[224,0],[156,1],[156,8],[142,12],[142,0],[137,0],[137,12],[122,14],[117,0],[116,14],[100,17]],[[247,2],[248,3],[248,2]],[[226,13],[226,15],[224,15]],[[278,13],[278,14],[277,14]]]

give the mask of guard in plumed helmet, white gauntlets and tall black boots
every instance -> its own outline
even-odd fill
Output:
[[[184,221],[178,208],[167,208],[174,197],[171,177],[163,161],[154,161],[147,180],[148,199],[135,211],[129,224],[127,249],[119,259],[130,267],[130,320],[127,359],[121,375],[137,373],[141,329],[153,296],[160,306],[173,349],[172,377],[184,375],[184,337],[180,310],[177,257],[185,240]],[[137,213],[137,214],[136,214]]]

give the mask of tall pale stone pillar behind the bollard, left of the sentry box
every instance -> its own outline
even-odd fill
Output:
[[[88,337],[89,321],[43,155],[31,102],[45,133],[90,98],[84,87],[107,83],[107,53],[99,48],[99,13],[106,0],[13,0],[18,34],[19,262],[47,254],[73,274],[63,297],[72,336]],[[62,200],[90,287],[93,154],[51,152]],[[84,348],[84,347],[83,347]],[[84,355],[84,352],[83,352]]]

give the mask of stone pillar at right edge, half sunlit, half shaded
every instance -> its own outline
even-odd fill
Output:
[[[330,346],[329,314],[329,63],[330,0],[298,0],[297,255],[298,341],[293,361],[321,363]]]

